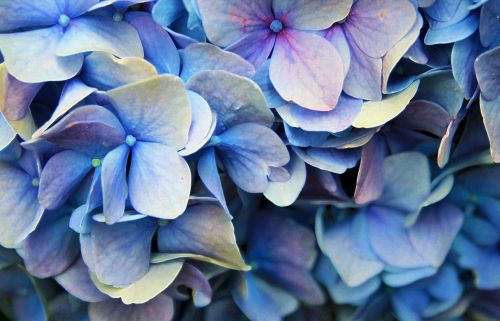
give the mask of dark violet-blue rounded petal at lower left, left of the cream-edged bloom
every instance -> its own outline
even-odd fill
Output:
[[[23,244],[26,269],[38,278],[55,276],[66,270],[78,256],[77,234],[69,229],[69,216],[47,220]]]

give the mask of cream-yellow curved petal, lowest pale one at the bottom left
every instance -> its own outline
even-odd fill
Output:
[[[125,304],[144,304],[169,287],[184,264],[183,260],[173,260],[151,264],[148,273],[126,288],[115,288],[93,279],[97,288],[112,298],[121,298]]]

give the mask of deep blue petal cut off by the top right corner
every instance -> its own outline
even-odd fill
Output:
[[[479,34],[484,47],[493,47],[500,44],[500,25],[498,16],[500,15],[500,3],[498,1],[488,1],[481,8],[479,20]]]

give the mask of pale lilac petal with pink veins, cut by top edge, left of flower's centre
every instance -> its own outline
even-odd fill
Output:
[[[199,0],[208,39],[226,47],[258,29],[269,29],[273,21],[271,0]]]

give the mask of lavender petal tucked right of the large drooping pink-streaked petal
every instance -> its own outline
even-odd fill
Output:
[[[365,100],[382,99],[382,58],[372,58],[351,42],[351,62],[344,91]]]

